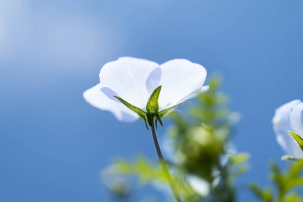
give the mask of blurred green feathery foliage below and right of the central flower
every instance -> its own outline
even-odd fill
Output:
[[[210,89],[197,95],[187,113],[169,114],[173,124],[166,147],[172,158],[166,163],[182,201],[235,201],[235,180],[248,170],[249,155],[238,153],[230,142],[239,115],[226,107],[228,97],[219,93],[220,80],[210,79]],[[143,156],[133,162],[120,159],[104,173],[137,176],[142,185],[169,186],[159,162]],[[203,183],[191,183],[191,177]],[[169,187],[162,190],[173,201]]]

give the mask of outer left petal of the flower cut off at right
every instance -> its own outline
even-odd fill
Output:
[[[296,158],[303,156],[303,153],[287,131],[292,131],[289,118],[291,108],[300,103],[301,101],[296,99],[284,104],[280,108],[276,109],[275,116],[272,120],[277,142],[281,145],[286,155],[294,156]]]

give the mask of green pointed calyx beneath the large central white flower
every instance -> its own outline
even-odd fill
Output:
[[[157,122],[159,121],[160,125],[163,127],[163,122],[161,120],[162,117],[164,117],[165,115],[167,115],[171,110],[175,109],[176,107],[185,104],[185,103],[190,103],[190,102],[183,102],[180,103],[178,105],[175,105],[173,107],[164,109],[162,111],[159,112],[159,103],[158,103],[158,99],[160,96],[160,92],[161,92],[161,87],[159,86],[158,88],[156,88],[154,90],[153,93],[151,93],[148,102],[146,104],[146,111],[144,112],[142,109],[131,105],[130,103],[126,102],[124,99],[122,99],[121,97],[118,96],[114,96],[117,99],[119,99],[119,101],[125,105],[126,107],[128,107],[130,110],[132,110],[133,112],[135,112],[141,120],[143,120],[145,122],[145,126],[147,128],[147,130],[149,130],[148,125],[150,127],[156,127],[157,129]],[[148,123],[148,125],[147,125]]]

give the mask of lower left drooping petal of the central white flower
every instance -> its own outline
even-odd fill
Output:
[[[103,91],[102,85],[97,84],[92,88],[84,91],[83,97],[87,103],[100,109],[112,112],[119,121],[134,122],[138,119],[138,115],[128,109],[122,103],[109,98]],[[110,91],[106,89],[105,91]]]

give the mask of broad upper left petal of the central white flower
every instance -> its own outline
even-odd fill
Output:
[[[157,63],[148,60],[119,58],[103,66],[99,74],[100,84],[112,89],[128,103],[145,109],[149,97],[146,81],[157,67]]]

